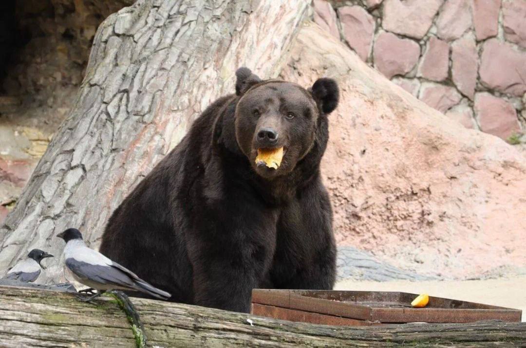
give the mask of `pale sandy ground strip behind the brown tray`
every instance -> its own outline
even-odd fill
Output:
[[[520,309],[522,310],[522,321],[526,321],[526,276],[510,279],[420,282],[345,280],[338,282],[335,290],[428,293],[431,296]]]

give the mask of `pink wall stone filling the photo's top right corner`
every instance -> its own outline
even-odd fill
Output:
[[[502,14],[504,37],[526,48],[526,1],[504,0]]]

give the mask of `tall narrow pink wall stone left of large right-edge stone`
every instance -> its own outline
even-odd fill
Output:
[[[472,34],[464,35],[451,47],[451,75],[463,95],[473,100],[477,84],[477,44]]]

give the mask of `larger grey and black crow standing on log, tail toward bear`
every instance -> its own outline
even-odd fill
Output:
[[[89,249],[79,230],[70,228],[57,234],[57,237],[66,242],[64,257],[66,267],[73,273],[73,277],[79,283],[89,286],[90,290],[98,291],[84,301],[91,301],[108,290],[139,291],[163,300],[170,298],[171,295],[166,291],[154,288],[135,273],[98,251]]]

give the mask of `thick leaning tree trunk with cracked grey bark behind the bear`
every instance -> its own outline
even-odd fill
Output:
[[[234,91],[236,68],[275,77],[309,0],[139,0],[97,30],[72,112],[0,229],[0,270],[32,248],[55,255],[77,227],[96,247],[127,193]],[[277,72],[277,71],[276,71]],[[60,258],[39,282],[58,281]]]

